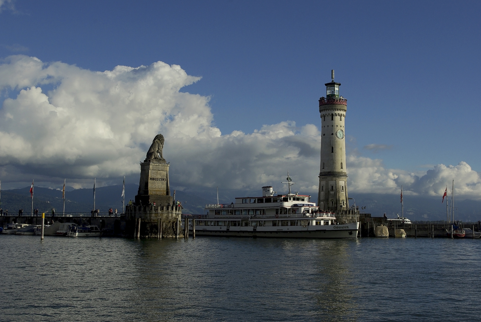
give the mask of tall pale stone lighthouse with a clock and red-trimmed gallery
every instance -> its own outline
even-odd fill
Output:
[[[319,173],[319,209],[336,213],[336,217],[354,215],[349,211],[347,196],[346,141],[344,120],[347,111],[347,99],[339,94],[341,83],[326,83],[326,97],[319,99],[321,114],[321,164]],[[352,212],[352,213],[351,213]],[[347,219],[347,218],[344,218]]]

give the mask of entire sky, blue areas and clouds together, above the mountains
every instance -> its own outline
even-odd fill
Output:
[[[352,192],[481,199],[477,1],[0,0],[0,179],[315,193],[318,99],[347,99]]]

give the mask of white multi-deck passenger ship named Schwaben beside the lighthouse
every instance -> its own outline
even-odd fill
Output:
[[[231,204],[205,205],[204,214],[193,216],[195,234],[207,236],[256,236],[287,238],[357,238],[359,222],[338,224],[335,214],[322,211],[311,196],[275,195],[262,187],[262,197],[235,198]],[[192,223],[189,230],[192,231]]]

